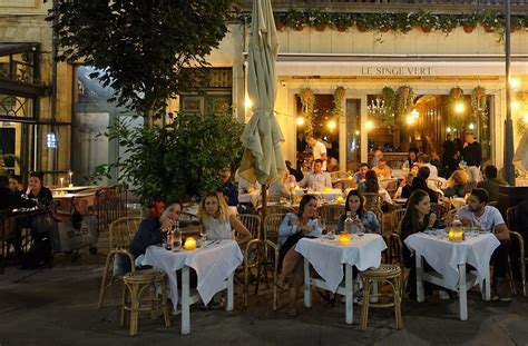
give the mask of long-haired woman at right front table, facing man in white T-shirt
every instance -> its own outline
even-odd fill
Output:
[[[400,224],[400,238],[404,241],[407,237],[419,231],[424,231],[428,227],[438,227],[437,216],[431,212],[431,201],[429,195],[423,190],[415,190],[409,198],[405,215]],[[407,293],[411,298],[417,298],[417,268],[414,254],[403,246],[403,265],[410,268]],[[431,268],[427,263],[423,264],[426,270]],[[426,283],[426,290],[431,289]]]

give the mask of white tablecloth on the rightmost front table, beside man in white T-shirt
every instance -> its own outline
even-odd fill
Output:
[[[409,236],[405,239],[405,245],[423,256],[450,286],[457,285],[458,265],[462,264],[469,264],[477,269],[477,277],[482,286],[489,259],[500,241],[492,234],[466,237],[466,240],[454,243],[448,239],[438,239],[433,235],[418,233]]]

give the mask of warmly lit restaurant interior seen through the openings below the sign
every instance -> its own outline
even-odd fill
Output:
[[[313,117],[313,132],[325,142],[329,155],[339,158],[340,150],[346,150],[346,170],[355,171],[361,162],[361,100],[346,99],[344,116],[335,115],[333,96],[316,93]],[[482,160],[489,160],[490,118],[492,96],[473,111],[471,96],[460,95],[456,100],[450,95],[415,95],[408,112],[399,113],[398,100],[388,100],[387,95],[370,93],[368,101],[368,152],[381,149],[392,168],[400,168],[410,148],[417,148],[429,157],[441,156],[442,144],[448,135],[451,140],[460,139],[472,131],[482,146]],[[304,136],[306,126],[301,97],[297,96],[297,154],[310,151]],[[342,134],[345,122],[346,134]],[[340,136],[346,136],[346,148],[340,148]]]

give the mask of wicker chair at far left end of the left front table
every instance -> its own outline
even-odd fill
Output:
[[[140,221],[140,217],[121,217],[110,224],[110,251],[106,257],[105,269],[102,271],[98,308],[102,307],[102,300],[107,289],[116,281],[114,275],[111,275],[108,280],[108,271],[114,265],[114,258],[119,255],[125,256],[125,258],[129,260],[130,270],[136,270],[134,265],[134,255],[130,254],[128,249],[130,248],[134,234],[138,229]],[[119,277],[118,279],[123,279],[123,277]]]

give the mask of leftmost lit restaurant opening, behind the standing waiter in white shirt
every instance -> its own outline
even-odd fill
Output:
[[[334,97],[329,93],[314,95],[315,106],[312,117],[313,135],[326,146],[326,155],[329,158],[329,171],[339,170],[340,160],[340,122],[343,121],[334,112]],[[297,167],[302,165],[302,158],[305,152],[312,152],[310,146],[306,145],[307,128],[306,115],[303,112],[301,97],[296,96],[296,156]]]

